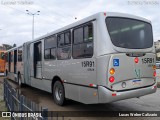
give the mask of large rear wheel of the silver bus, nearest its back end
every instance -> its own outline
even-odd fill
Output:
[[[65,102],[65,92],[64,87],[60,81],[56,81],[53,87],[54,101],[58,105],[64,105]]]

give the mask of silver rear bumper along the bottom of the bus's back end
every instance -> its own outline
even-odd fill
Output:
[[[155,93],[156,89],[157,89],[157,84],[154,84],[153,86],[140,89],[134,89],[122,92],[113,92],[103,86],[98,86],[99,103],[110,103],[119,100],[140,97],[147,94]]]

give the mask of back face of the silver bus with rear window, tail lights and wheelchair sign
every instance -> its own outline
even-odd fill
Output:
[[[102,36],[105,36],[106,43],[109,41],[106,48],[112,49],[106,49],[106,53],[97,58],[98,84],[106,89],[104,95],[99,92],[99,98],[107,98],[99,102],[113,102],[155,92],[156,58],[151,24],[136,17],[107,16],[105,27],[107,32],[103,32],[105,35]],[[103,42],[101,48],[106,45]],[[142,93],[140,90],[143,88],[148,90]],[[104,97],[109,91],[110,97]],[[129,91],[137,93],[125,96],[125,92],[128,94]],[[123,96],[114,99],[118,92]]]

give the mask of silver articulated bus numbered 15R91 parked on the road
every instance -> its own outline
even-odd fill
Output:
[[[109,103],[156,92],[151,22],[97,13],[8,51],[6,76],[54,101]]]

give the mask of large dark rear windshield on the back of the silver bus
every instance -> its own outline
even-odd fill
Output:
[[[153,45],[151,24],[135,19],[108,17],[107,29],[116,47],[144,49]]]

